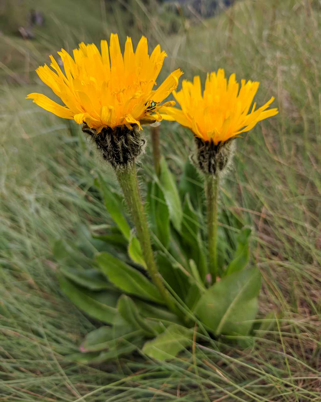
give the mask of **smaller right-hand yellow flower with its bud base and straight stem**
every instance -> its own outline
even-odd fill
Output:
[[[278,109],[269,109],[274,98],[256,109],[253,103],[259,82],[241,80],[235,74],[227,80],[223,69],[207,74],[202,93],[201,80],[183,80],[182,89],[173,91],[181,109],[160,108],[164,119],[177,121],[194,134],[195,165],[205,174],[207,224],[209,242],[209,271],[215,282],[217,276],[217,201],[219,176],[228,166],[234,142],[232,139],[252,129],[259,121],[272,117]],[[253,103],[253,105],[252,105]]]

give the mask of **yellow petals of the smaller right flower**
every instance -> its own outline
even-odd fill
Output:
[[[215,145],[252,129],[258,121],[274,116],[278,109],[268,109],[272,97],[265,105],[250,107],[258,90],[259,82],[241,81],[241,88],[232,74],[227,82],[223,69],[217,74],[207,74],[202,96],[201,80],[195,76],[193,83],[183,80],[182,89],[173,92],[181,110],[168,107],[160,109],[164,119],[176,120],[189,127],[195,136]],[[250,113],[249,113],[250,111]]]

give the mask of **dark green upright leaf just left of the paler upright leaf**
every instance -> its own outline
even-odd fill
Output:
[[[148,183],[147,205],[151,230],[167,248],[170,237],[169,209],[164,193],[156,182]]]

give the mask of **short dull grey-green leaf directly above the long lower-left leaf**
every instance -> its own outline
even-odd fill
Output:
[[[77,285],[86,287],[90,290],[112,289],[113,286],[108,283],[106,277],[97,269],[77,269],[70,267],[61,267],[60,272]]]

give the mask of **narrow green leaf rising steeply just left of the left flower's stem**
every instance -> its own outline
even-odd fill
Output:
[[[130,238],[130,226],[124,217],[122,203],[119,202],[119,199],[116,197],[115,193],[113,193],[110,186],[106,185],[101,175],[99,175],[98,187],[102,190],[104,196],[104,203],[106,209],[124,237],[129,240]]]

